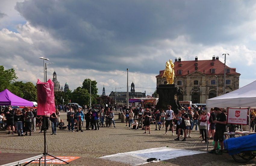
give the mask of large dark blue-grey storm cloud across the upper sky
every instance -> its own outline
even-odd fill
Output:
[[[188,35],[190,42],[204,45],[233,42],[243,33],[233,34],[230,29],[251,19],[244,12],[251,12],[252,3],[33,0],[17,3],[16,9],[32,26],[66,41],[71,51],[49,55],[52,61],[71,68],[105,71],[126,67],[138,71],[151,65],[146,72],[153,73],[160,65],[156,59],[140,65],[138,61],[145,60],[141,59],[143,55],[157,52],[158,48],[152,52],[148,49],[155,47],[155,41]],[[169,53],[162,54],[167,56]]]

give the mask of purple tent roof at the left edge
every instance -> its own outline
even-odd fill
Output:
[[[21,97],[12,94],[10,91],[5,89],[0,92],[0,105],[12,105],[12,106],[32,106],[31,101],[27,101]]]

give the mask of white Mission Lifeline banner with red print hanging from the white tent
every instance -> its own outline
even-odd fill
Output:
[[[246,125],[247,112],[248,109],[244,108],[228,108],[227,123]]]

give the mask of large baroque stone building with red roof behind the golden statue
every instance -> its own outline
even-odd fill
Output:
[[[206,103],[207,99],[223,94],[224,87],[224,63],[219,57],[212,57],[211,60],[181,61],[175,58],[174,62],[174,84],[181,89],[179,101],[192,101],[192,103]],[[164,70],[159,71],[156,76],[157,87],[159,84],[166,84],[162,78]],[[239,88],[239,76],[236,68],[226,66],[226,93]]]

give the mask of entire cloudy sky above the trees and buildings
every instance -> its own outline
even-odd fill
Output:
[[[224,62],[229,53],[242,87],[255,81],[255,30],[255,1],[1,0],[0,65],[36,83],[44,56],[63,88],[90,78],[107,95],[126,91],[129,68],[129,86],[151,94],[168,59]]]

